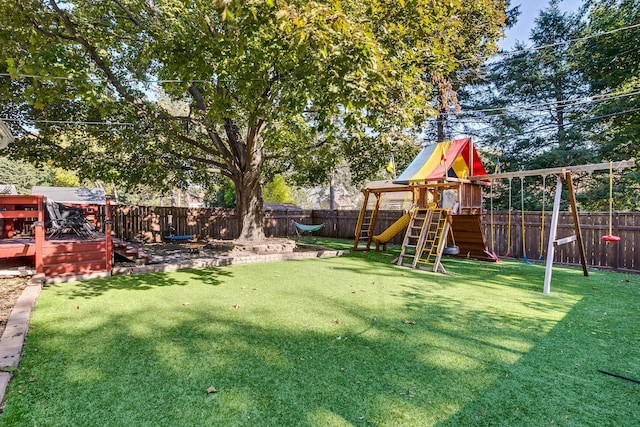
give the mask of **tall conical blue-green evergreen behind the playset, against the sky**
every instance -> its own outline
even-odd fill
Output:
[[[540,11],[523,42],[487,65],[487,79],[467,88],[469,131],[502,155],[509,170],[583,164],[594,150],[582,124],[588,84],[576,66],[572,40],[580,15],[562,12],[559,0]]]

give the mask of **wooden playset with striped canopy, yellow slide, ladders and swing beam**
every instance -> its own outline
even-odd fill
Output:
[[[442,265],[444,255],[475,258],[496,262],[498,257],[487,246],[483,232],[483,189],[492,188],[497,180],[524,177],[556,177],[556,191],[549,227],[546,254],[544,293],[551,292],[551,276],[556,247],[575,242],[585,276],[588,275],[582,230],[578,217],[573,174],[609,171],[609,215],[612,212],[612,179],[617,170],[633,167],[633,160],[571,166],[566,168],[538,169],[521,172],[487,174],[471,138],[440,142],[422,149],[407,169],[393,181],[377,181],[362,192],[364,201],[356,224],[353,249],[386,249],[386,244],[398,233],[404,231],[400,255],[394,263],[415,269],[427,269],[446,273]],[[560,214],[562,191],[567,187],[570,212],[573,218],[571,236],[556,238]],[[407,209],[397,221],[386,230],[376,234],[376,220],[385,194],[405,193],[410,200]],[[371,196],[374,196],[372,198]],[[511,202],[511,199],[509,200]],[[609,221],[611,223],[611,219]],[[543,233],[544,234],[544,233]],[[492,236],[493,237],[493,236]],[[602,236],[605,242],[617,242],[618,236]],[[526,260],[526,255],[525,255]]]

